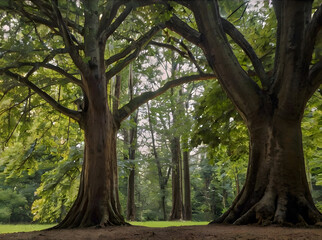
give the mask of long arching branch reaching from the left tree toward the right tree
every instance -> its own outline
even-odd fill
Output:
[[[199,75],[185,76],[175,80],[171,80],[166,84],[164,84],[163,87],[160,87],[158,90],[154,92],[145,92],[145,93],[142,93],[140,96],[133,98],[129,103],[127,103],[126,105],[124,105],[122,108],[118,110],[115,116],[115,119],[118,120],[119,122],[122,122],[142,104],[161,95],[162,93],[164,93],[170,88],[179,86],[183,83],[189,83],[197,80],[208,80],[208,79],[214,79],[214,78],[216,78],[216,75],[214,74],[199,74]]]

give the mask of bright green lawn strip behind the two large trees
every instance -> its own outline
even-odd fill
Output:
[[[207,225],[208,222],[192,222],[192,221],[158,221],[158,222],[130,222],[134,226],[144,227],[174,227],[174,226],[191,226],[191,225]],[[14,232],[32,232],[53,227],[54,224],[0,224],[0,233]]]

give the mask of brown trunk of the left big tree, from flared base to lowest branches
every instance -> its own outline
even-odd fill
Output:
[[[89,108],[84,132],[84,163],[78,197],[57,227],[124,225],[118,196],[117,126],[106,106]]]

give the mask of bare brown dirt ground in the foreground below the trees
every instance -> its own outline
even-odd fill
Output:
[[[0,240],[141,240],[141,239],[310,239],[322,240],[322,228],[258,227],[253,225],[234,226],[182,226],[149,228],[141,226],[107,227],[71,230],[36,231],[1,234]]]

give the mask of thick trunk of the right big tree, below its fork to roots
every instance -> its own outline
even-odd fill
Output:
[[[300,119],[262,114],[248,123],[250,159],[245,186],[214,222],[315,224],[321,214],[306,180]]]

